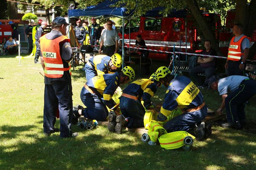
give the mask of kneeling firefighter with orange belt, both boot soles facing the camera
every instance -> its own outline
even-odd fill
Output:
[[[144,127],[145,108],[149,110],[155,107],[150,98],[154,96],[160,85],[155,73],[149,79],[138,79],[129,84],[120,97],[120,110],[123,115],[109,115],[108,130],[122,133],[126,126],[127,128]]]

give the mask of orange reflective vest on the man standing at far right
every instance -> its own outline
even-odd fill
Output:
[[[241,53],[241,43],[245,38],[248,38],[248,37],[244,35],[237,42],[234,42],[235,37],[231,39],[229,48],[228,48],[228,60],[239,61],[241,59],[241,56],[244,55],[244,53]]]

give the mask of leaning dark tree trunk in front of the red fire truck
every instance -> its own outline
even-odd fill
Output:
[[[217,41],[215,39],[215,35],[212,32],[210,26],[207,24],[206,20],[204,19],[204,16],[202,15],[202,12],[200,11],[196,0],[185,0],[189,9],[191,10],[193,16],[196,18],[197,23],[200,26],[201,31],[204,34],[204,37],[206,39],[211,40],[212,42],[212,48],[214,48],[218,55],[221,55],[220,48],[217,45]]]

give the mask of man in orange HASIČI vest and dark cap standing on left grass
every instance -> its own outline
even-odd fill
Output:
[[[60,137],[76,137],[71,131],[72,85],[70,61],[72,49],[65,18],[52,21],[52,31],[40,38],[41,65],[44,69],[44,135],[58,132],[54,127],[56,113],[60,117]]]

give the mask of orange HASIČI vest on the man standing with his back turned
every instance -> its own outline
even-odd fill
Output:
[[[49,78],[60,78],[63,76],[64,71],[68,71],[71,75],[71,66],[68,62],[68,68],[65,68],[60,57],[61,41],[66,40],[70,42],[65,36],[60,36],[56,39],[47,39],[46,35],[40,38],[40,48],[44,57],[44,75]]]

